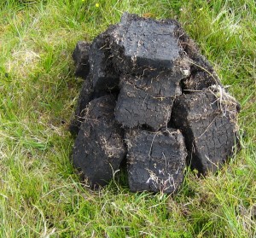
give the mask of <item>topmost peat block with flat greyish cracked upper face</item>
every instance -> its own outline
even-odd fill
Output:
[[[188,66],[176,34],[176,20],[153,20],[124,14],[111,36],[113,61],[120,72],[145,74]]]

